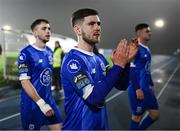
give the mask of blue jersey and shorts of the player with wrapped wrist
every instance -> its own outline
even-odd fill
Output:
[[[58,107],[51,93],[51,74],[53,54],[50,48],[39,49],[28,45],[19,54],[19,80],[29,79],[39,96],[48,103],[55,112],[51,118],[45,117],[37,104],[22,89],[21,120],[24,130],[39,130],[42,125],[51,125],[62,121]]]

